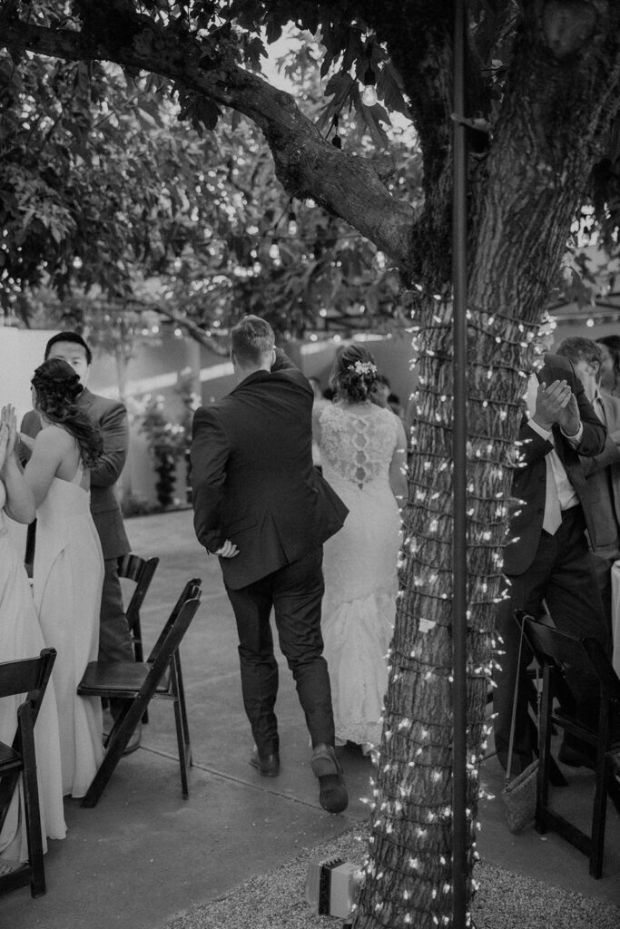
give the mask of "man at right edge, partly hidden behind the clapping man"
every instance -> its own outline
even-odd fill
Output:
[[[600,390],[602,350],[592,339],[573,335],[564,339],[558,354],[573,362],[600,422],[607,427],[605,447],[581,462],[590,497],[595,538],[590,539],[605,616],[612,629],[612,576],[620,558],[620,399]]]

